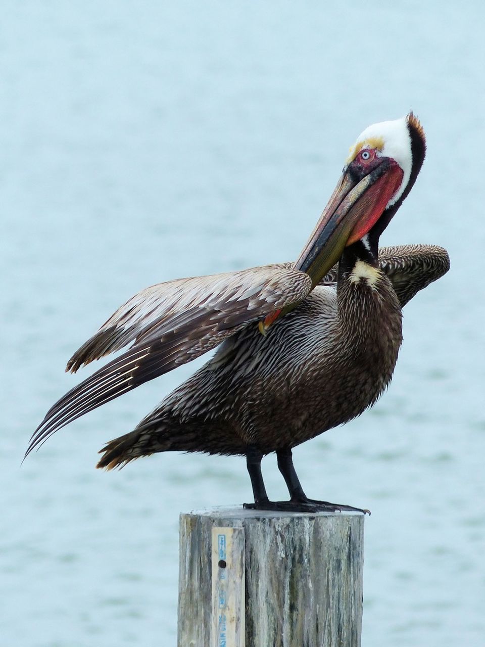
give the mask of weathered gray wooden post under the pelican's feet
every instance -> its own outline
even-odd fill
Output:
[[[181,514],[178,647],[360,647],[363,521],[242,507]]]

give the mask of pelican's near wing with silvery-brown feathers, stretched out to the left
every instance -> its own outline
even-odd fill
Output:
[[[195,359],[251,322],[299,302],[310,277],[287,265],[167,281],[138,292],[74,353],[76,371],[135,342],[47,412],[26,456],[61,427],[136,386]]]

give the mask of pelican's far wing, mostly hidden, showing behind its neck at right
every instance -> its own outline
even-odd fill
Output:
[[[381,247],[378,262],[393,284],[401,307],[449,270],[448,252],[438,245]],[[321,283],[336,283],[337,276],[338,266],[334,265]]]

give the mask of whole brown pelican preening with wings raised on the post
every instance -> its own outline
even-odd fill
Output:
[[[350,149],[296,263],[167,281],[133,296],[67,370],[133,345],[52,406],[26,455],[88,411],[219,346],[135,430],[107,443],[98,467],[167,451],[245,455],[254,495],[248,507],[354,509],[308,499],[292,448],[376,402],[393,375],[402,307],[449,267],[436,246],[378,250],[425,151],[413,113],[374,124]],[[289,501],[266,495],[261,459],[271,452]]]

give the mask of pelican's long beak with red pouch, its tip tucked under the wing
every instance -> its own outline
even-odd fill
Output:
[[[358,181],[347,168],[343,171],[329,203],[303,248],[294,268],[306,272],[312,289],[335,265],[347,245],[365,236],[380,218],[402,182],[402,170],[387,157]],[[259,325],[264,334],[270,325],[297,304],[268,314]]]

